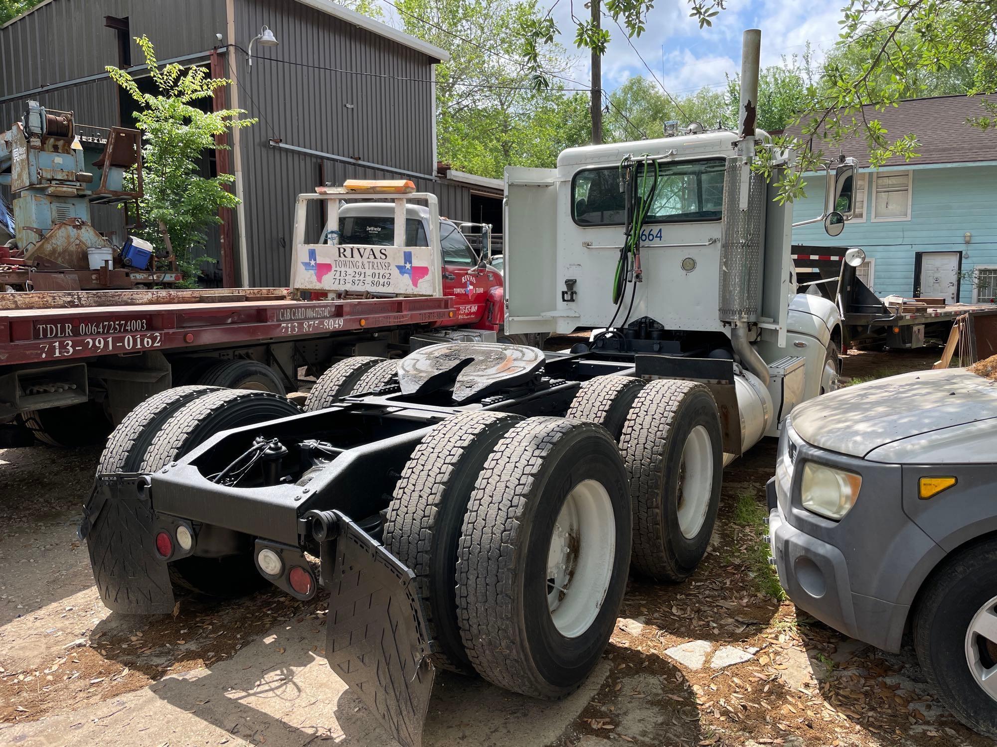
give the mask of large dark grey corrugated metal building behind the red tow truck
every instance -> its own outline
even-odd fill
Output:
[[[250,66],[263,26],[279,46],[257,43]],[[224,105],[259,120],[205,164],[235,173],[242,198],[208,247],[219,259],[230,248],[234,283],[287,282],[294,196],[320,183],[405,176],[442,214],[473,220],[485,200],[500,215],[498,184],[437,173],[434,65],[447,53],[329,0],[44,0],[0,27],[0,127],[29,99],[82,124],[131,124],[105,67],[144,62],[132,40],[143,34],[161,64],[213,57],[234,82]]]

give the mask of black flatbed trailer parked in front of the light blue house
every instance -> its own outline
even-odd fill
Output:
[[[845,251],[845,247],[793,247],[798,289],[820,294],[838,305],[845,349],[882,346],[911,350],[943,344],[956,319],[995,309],[993,304],[946,304],[913,312],[895,311],[856,276],[855,268],[844,261]]]

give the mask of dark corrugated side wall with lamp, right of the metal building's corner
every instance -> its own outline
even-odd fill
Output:
[[[236,0],[235,25],[240,46],[248,46],[263,25],[280,42],[278,47],[255,46],[251,71],[244,53],[233,54],[238,56],[239,107],[259,119],[240,132],[249,282],[283,285],[288,281],[294,197],[319,183],[323,159],[272,148],[269,138],[430,174],[435,167],[432,89],[428,83],[397,79],[429,81],[433,61],[296,2]],[[373,177],[370,169],[347,168],[342,173]],[[383,172],[382,177],[398,175]],[[326,178],[341,181],[339,172]]]

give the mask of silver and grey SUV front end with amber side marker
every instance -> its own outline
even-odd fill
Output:
[[[772,555],[796,605],[897,651],[997,737],[997,381],[904,373],[798,405],[769,481]]]

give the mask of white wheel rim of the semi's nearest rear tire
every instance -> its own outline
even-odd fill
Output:
[[[574,638],[595,621],[609,589],[616,521],[597,480],[572,488],[554,522],[547,551],[547,609],[561,635]]]

